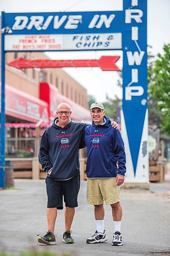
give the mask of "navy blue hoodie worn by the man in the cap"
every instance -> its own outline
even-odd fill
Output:
[[[125,176],[126,173],[122,136],[110,125],[108,117],[105,116],[104,119],[105,124],[96,126],[92,121],[85,130],[88,178],[115,178],[116,175]]]

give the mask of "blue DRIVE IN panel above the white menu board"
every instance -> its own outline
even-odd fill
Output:
[[[13,34],[86,34],[122,30],[123,12],[6,13]]]

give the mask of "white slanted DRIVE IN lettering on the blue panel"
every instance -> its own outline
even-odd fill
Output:
[[[96,14],[92,17],[88,28],[100,29],[103,25],[106,28],[110,28],[114,17],[114,14],[110,14],[109,17],[105,14]],[[82,15],[63,15],[60,18],[58,15],[49,15],[45,20],[44,16],[41,15],[32,15],[30,18],[28,16],[15,16],[12,30],[31,30],[33,27],[36,30],[46,30],[52,22],[54,29],[59,29],[62,25],[64,25],[65,29],[77,29],[79,23],[82,23]]]

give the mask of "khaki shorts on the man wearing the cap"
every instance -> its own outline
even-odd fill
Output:
[[[87,179],[87,203],[93,205],[115,204],[120,201],[120,189],[116,178]]]

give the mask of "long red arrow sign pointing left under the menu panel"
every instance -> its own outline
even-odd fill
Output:
[[[15,59],[8,63],[16,69],[28,68],[77,68],[77,67],[100,67],[104,71],[120,71],[115,62],[120,56],[102,56],[100,59]]]

